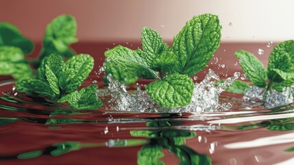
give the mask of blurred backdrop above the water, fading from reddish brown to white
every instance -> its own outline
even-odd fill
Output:
[[[194,15],[219,15],[222,41],[294,39],[293,0],[0,0],[0,21],[42,41],[47,23],[60,14],[77,19],[79,41],[136,41],[149,26],[173,39]]]

